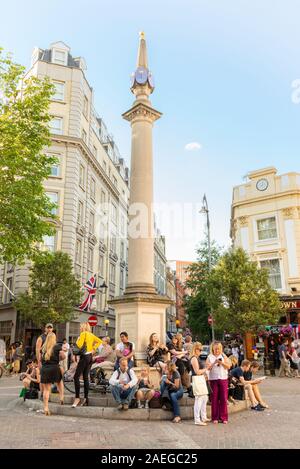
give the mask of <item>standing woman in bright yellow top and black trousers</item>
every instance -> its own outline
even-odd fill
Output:
[[[91,333],[91,327],[88,322],[80,324],[80,336],[76,341],[76,345],[82,350],[80,359],[74,375],[75,384],[75,400],[72,407],[80,404],[80,376],[83,375],[84,381],[84,400],[81,405],[89,404],[89,372],[92,365],[93,352],[96,352],[102,340]]]

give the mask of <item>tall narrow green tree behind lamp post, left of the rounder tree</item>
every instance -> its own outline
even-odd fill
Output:
[[[211,266],[217,264],[221,256],[221,248],[213,241],[211,243]],[[197,262],[188,269],[186,286],[190,288],[191,295],[186,297],[185,309],[187,323],[194,336],[202,342],[211,338],[211,327],[208,324],[210,306],[207,302],[207,280],[209,277],[209,251],[207,241],[201,243],[197,250]]]

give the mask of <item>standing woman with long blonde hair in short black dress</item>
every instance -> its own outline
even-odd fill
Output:
[[[62,345],[56,343],[56,335],[54,332],[50,332],[42,347],[41,383],[44,385],[43,400],[45,415],[50,415],[48,402],[51,392],[51,384],[56,384],[59,392],[60,403],[64,403],[64,385],[59,366],[60,360],[64,360],[64,358],[65,354],[62,351]]]

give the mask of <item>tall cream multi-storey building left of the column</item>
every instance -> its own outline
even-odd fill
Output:
[[[74,58],[70,48],[56,42],[49,49],[36,48],[27,76],[48,76],[55,87],[50,113],[51,147],[58,163],[45,181],[49,198],[57,204],[56,235],[45,237],[41,249],[61,250],[74,261],[74,271],[82,285],[97,272],[98,285],[107,289],[97,293],[95,333],[114,334],[114,310],[107,301],[122,295],[127,278],[127,227],[129,171],[118,148],[94,108],[94,92],[86,79],[83,58]],[[4,265],[0,278],[15,295],[28,287],[28,264],[14,268]],[[9,292],[0,285],[0,337],[17,340],[25,328],[25,337],[36,333],[20,322],[11,307]],[[60,325],[59,336],[73,340],[79,322]],[[10,336],[10,337],[9,337]]]

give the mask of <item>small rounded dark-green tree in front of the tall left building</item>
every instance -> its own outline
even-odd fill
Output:
[[[68,254],[43,252],[31,268],[29,291],[19,295],[15,307],[25,320],[37,326],[47,322],[64,323],[75,317],[80,287]]]

